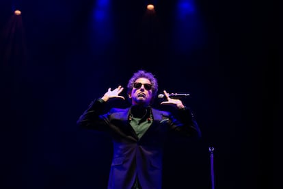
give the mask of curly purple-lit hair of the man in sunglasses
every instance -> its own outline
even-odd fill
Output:
[[[152,75],[152,73],[144,71],[144,70],[139,70],[136,73],[133,74],[131,79],[129,80],[129,83],[127,85],[128,88],[128,94],[131,93],[133,89],[133,85],[135,81],[141,77],[144,77],[148,80],[150,80],[150,83],[152,85],[152,100],[157,96],[157,91],[158,91],[158,82],[157,79]]]

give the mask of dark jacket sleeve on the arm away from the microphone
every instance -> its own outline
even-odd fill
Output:
[[[105,104],[105,101],[102,99],[92,101],[89,108],[79,117],[77,125],[83,129],[107,130],[108,124],[105,120],[105,116],[101,116],[105,110]]]

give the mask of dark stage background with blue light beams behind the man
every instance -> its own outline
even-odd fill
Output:
[[[1,188],[106,188],[111,140],[76,121],[139,69],[160,92],[190,93],[202,129],[201,140],[167,141],[164,188],[211,188],[208,147],[215,188],[276,188],[272,6],[156,3],[149,14],[146,1],[1,1]]]

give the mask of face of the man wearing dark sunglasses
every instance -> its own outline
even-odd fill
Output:
[[[152,88],[150,80],[141,77],[135,80],[134,87],[129,98],[132,99],[133,105],[150,105],[152,99]]]

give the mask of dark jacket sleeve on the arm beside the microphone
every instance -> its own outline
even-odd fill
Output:
[[[170,120],[174,131],[189,137],[201,137],[200,127],[189,108],[177,110],[176,116],[171,115]]]

